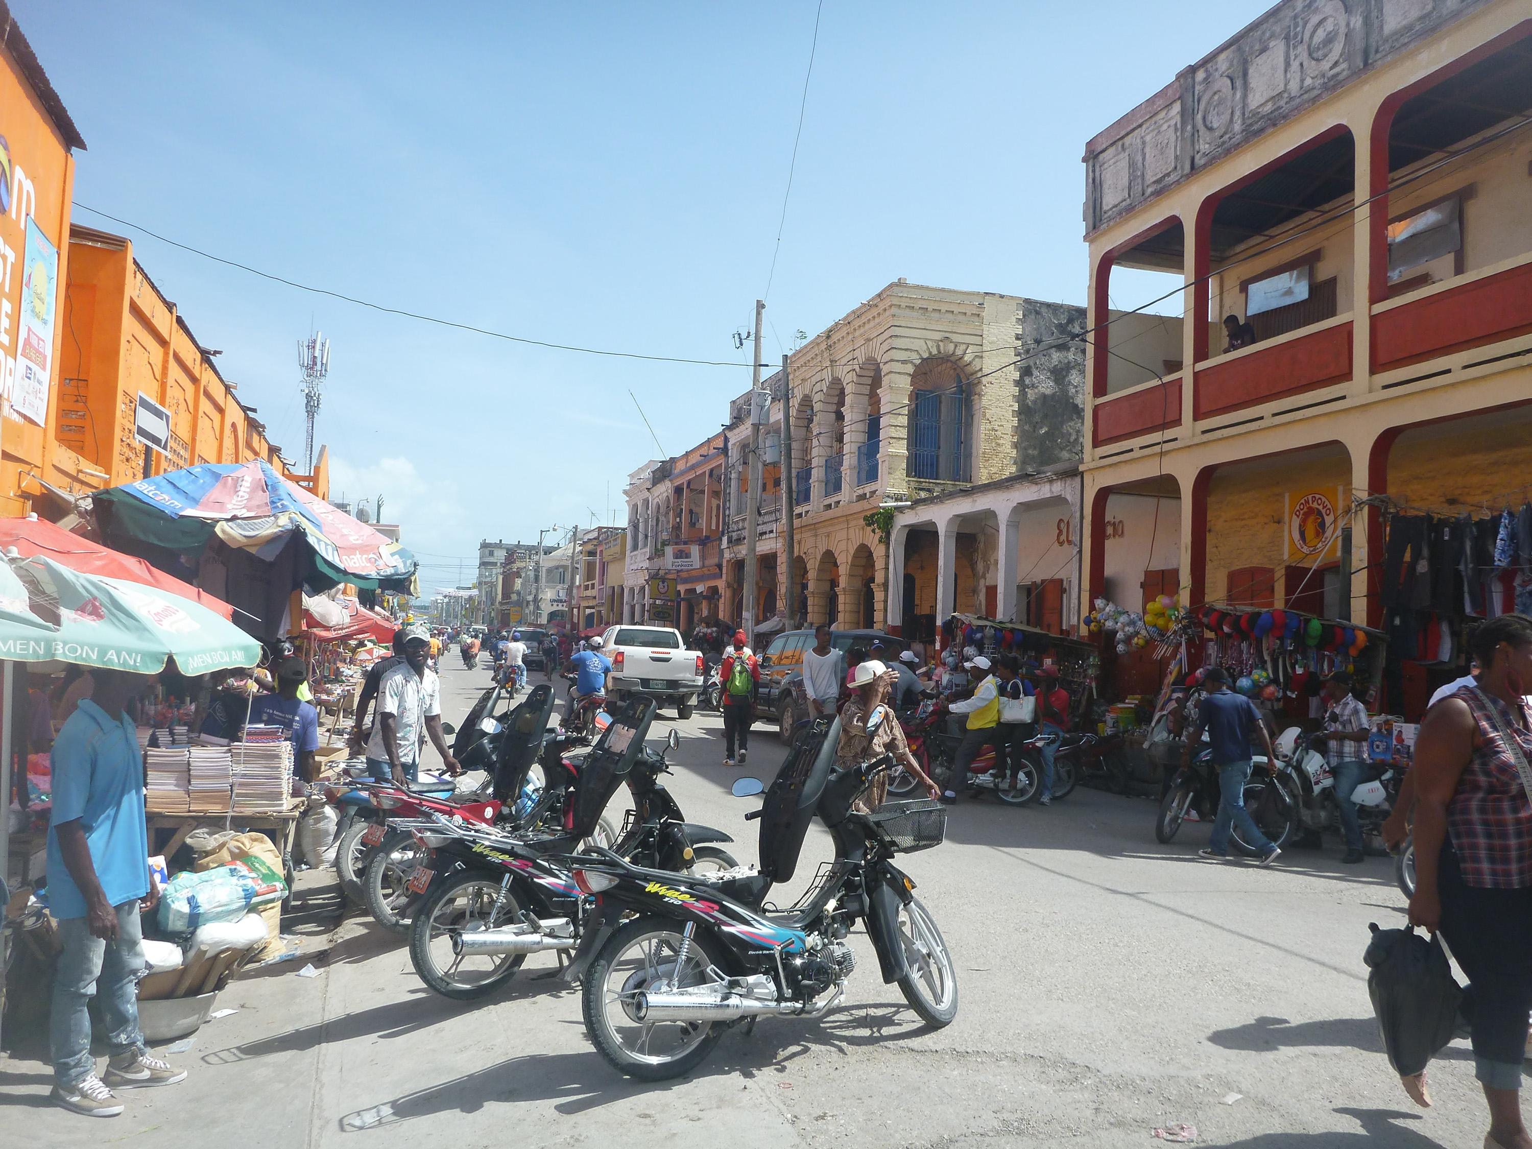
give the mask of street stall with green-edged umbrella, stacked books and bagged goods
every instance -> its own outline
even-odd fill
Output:
[[[20,751],[28,748],[32,728],[40,720],[49,735],[52,729],[46,697],[41,714],[23,706],[23,700],[32,696],[17,686],[28,677],[28,669],[77,666],[86,674],[115,669],[162,674],[165,680],[185,683],[185,674],[256,665],[260,645],[192,597],[155,585],[70,570],[46,555],[21,558],[12,553],[0,561],[0,653],[8,656],[0,663],[6,700],[0,717],[0,794],[6,798],[6,817],[0,820],[0,858],[6,859],[6,889],[11,895],[6,916],[26,935],[26,953],[32,959],[46,959],[52,954],[43,885],[52,761],[47,752],[21,757]],[[153,696],[135,699],[126,709],[138,726],[144,754],[146,821],[150,827],[146,856],[150,864],[161,863],[156,873],[169,882],[167,893],[176,889],[181,878],[173,872],[173,863],[169,867],[164,863],[198,829],[230,830],[236,823],[268,829],[291,849],[297,810],[290,798],[291,748],[285,731],[247,725],[250,740],[245,745],[193,746],[188,725],[195,708],[187,699],[176,699],[165,685],[158,686]],[[14,763],[25,763],[25,772],[15,777],[18,786],[12,784]],[[161,833],[169,838],[159,838]],[[282,855],[271,841],[262,835],[244,838],[248,840],[245,849],[268,850],[277,859],[276,872],[280,872]],[[165,846],[172,849],[155,855],[156,847]],[[228,887],[225,893],[237,893],[245,890],[241,875],[250,872],[250,866],[242,866],[230,869],[224,878],[196,876],[195,881],[208,885],[222,881]],[[259,885],[264,890],[259,896],[273,901],[276,887],[271,881],[264,878]],[[280,889],[285,893],[285,885]],[[257,896],[253,887],[250,893]],[[5,936],[9,935],[8,930]],[[268,930],[262,927],[260,938],[267,936]],[[233,954],[245,953],[251,945],[221,945],[219,953],[230,956],[218,970],[204,970],[198,962],[192,970],[193,974],[201,973],[198,988],[207,985],[208,991],[216,991],[219,980],[233,968]],[[6,968],[6,962],[0,961],[0,968]],[[181,968],[179,961],[165,968]]]

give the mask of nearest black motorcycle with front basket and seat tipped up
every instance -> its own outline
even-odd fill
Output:
[[[882,722],[882,708],[869,729]],[[574,881],[596,899],[579,950],[564,971],[579,979],[585,1030],[622,1074],[679,1077],[700,1063],[729,1026],[763,1014],[817,1017],[846,993],[856,965],[846,938],[864,922],[885,984],[933,1026],[958,1016],[958,980],[947,944],[915,882],[893,864],[899,852],[942,841],[947,807],[890,803],[861,813],[852,803],[879,774],[875,761],[832,769],[840,719],[820,717],[794,738],[766,789],[760,873],[712,879],[647,869],[601,852],[578,859]],[[760,794],[740,778],[738,797]],[[812,818],[829,827],[835,861],[787,910],[766,905],[792,878]]]

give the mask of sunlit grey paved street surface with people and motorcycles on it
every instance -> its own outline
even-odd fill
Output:
[[[484,682],[449,668],[447,717]],[[654,729],[671,726],[688,818],[737,835],[754,863],[743,815],[755,803],[729,784],[771,775],[775,731],[758,726],[749,766],[726,769],[717,715],[666,712]],[[205,1149],[210,1132],[380,1149],[1143,1146],[1170,1121],[1246,1149],[1478,1144],[1466,1043],[1432,1066],[1432,1111],[1408,1103],[1380,1052],[1360,954],[1370,921],[1402,922],[1386,861],[1342,873],[1331,844],[1273,870],[1213,866],[1193,856],[1206,827],[1160,847],[1152,821],[1147,800],[1083,787],[1052,809],[953,810],[947,844],[908,858],[959,968],[959,1016],[938,1033],[881,984],[858,933],[833,1014],[731,1031],[696,1077],[639,1085],[587,1043],[578,994],[541,980],[552,956],[490,1000],[457,1003],[424,988],[401,939],[352,915],[328,942],[306,941],[328,945],[320,976],[280,964],[230,985],[219,1005],[237,1013],[179,1056],[185,1085],[129,1095],[124,1117],[92,1123],[47,1105],[41,1057],[8,1060],[0,1123],[23,1120],[32,1146],[156,1149]],[[827,853],[817,832],[800,879]]]

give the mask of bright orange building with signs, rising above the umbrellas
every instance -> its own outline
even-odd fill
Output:
[[[139,391],[170,412],[152,473],[262,458],[328,498],[325,452],[293,473],[132,244],[70,224],[84,139],[9,18],[0,61],[0,515],[58,519],[77,495],[142,478]]]

